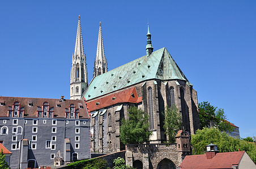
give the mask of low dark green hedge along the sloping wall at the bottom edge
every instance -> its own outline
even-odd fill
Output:
[[[80,161],[76,161],[74,163],[69,164],[69,168],[71,169],[105,169],[107,168],[107,162],[102,158],[92,158],[92,159],[84,159]]]

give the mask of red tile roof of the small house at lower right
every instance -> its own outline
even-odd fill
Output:
[[[179,168],[232,168],[232,166],[237,166],[239,164],[244,153],[245,151],[217,153],[212,159],[207,159],[206,154],[187,155]]]

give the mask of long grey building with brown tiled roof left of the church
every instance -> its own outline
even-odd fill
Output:
[[[12,152],[11,168],[53,166],[58,151],[63,163],[90,158],[89,136],[84,100],[0,97],[0,143]]]

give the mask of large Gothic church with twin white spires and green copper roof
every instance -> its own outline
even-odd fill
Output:
[[[101,23],[93,79],[88,84],[80,16],[72,56],[70,99],[86,101],[91,115],[91,153],[113,153],[125,149],[120,126],[130,106],[149,115],[152,136],[148,143],[164,143],[164,110],[176,105],[185,131],[199,128],[197,91],[182,73],[167,48],[153,51],[148,25],[146,55],[108,71]]]

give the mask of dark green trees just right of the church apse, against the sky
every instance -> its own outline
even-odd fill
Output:
[[[217,127],[220,131],[233,131],[232,126],[227,122],[227,117],[223,109],[217,109],[208,101],[198,104],[200,129],[203,127]]]

